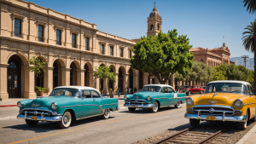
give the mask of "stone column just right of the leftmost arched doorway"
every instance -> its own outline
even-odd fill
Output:
[[[35,93],[35,72],[29,71],[29,66],[24,66],[25,92],[24,97],[28,99],[37,98]]]

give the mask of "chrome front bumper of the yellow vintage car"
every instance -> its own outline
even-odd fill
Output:
[[[200,119],[200,120],[207,120],[207,115],[198,115],[198,114],[189,114],[185,113],[185,118],[192,118],[192,119]],[[217,121],[229,121],[229,122],[246,122],[247,116],[232,116],[226,117],[223,116],[215,116],[215,120]]]

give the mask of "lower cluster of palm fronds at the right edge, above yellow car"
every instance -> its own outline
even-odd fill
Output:
[[[242,32],[243,37],[241,37],[242,45],[244,46],[244,48],[247,51],[251,51],[252,53],[254,52],[254,46],[255,46],[255,41],[253,41],[254,24],[255,24],[255,21],[251,22],[251,25],[248,25],[246,28],[244,28],[247,31]]]

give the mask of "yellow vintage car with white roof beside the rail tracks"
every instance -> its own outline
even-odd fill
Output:
[[[237,128],[245,130],[249,119],[256,120],[255,95],[251,84],[244,81],[213,81],[207,84],[202,95],[192,95],[186,99],[191,126],[200,121],[236,122]]]

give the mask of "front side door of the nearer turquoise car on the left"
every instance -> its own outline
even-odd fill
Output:
[[[90,89],[81,90],[81,118],[94,115],[95,107],[90,94]]]

